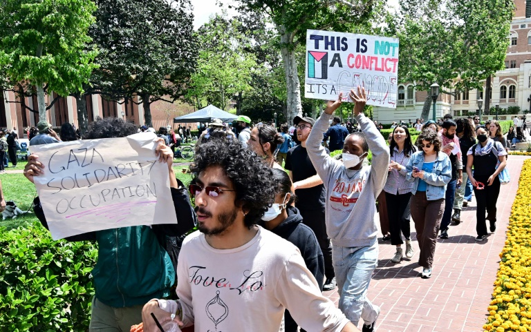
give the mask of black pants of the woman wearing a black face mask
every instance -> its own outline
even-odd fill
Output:
[[[496,222],[496,202],[500,195],[500,180],[498,177],[494,179],[491,186],[487,186],[487,179],[489,177],[475,176],[476,181],[485,184],[484,189],[478,190],[474,188],[474,195],[476,195],[477,210],[476,210],[476,232],[478,235],[487,235],[487,221],[485,218],[485,211],[489,213],[491,222]]]

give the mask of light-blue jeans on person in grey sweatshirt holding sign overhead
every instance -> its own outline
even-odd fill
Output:
[[[357,325],[360,318],[371,324],[380,307],[366,298],[373,271],[378,265],[378,241],[371,246],[333,246],[332,259],[339,293],[339,309]]]

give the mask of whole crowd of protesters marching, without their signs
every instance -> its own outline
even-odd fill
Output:
[[[476,196],[476,241],[487,237],[487,220],[489,231],[496,231],[499,174],[507,156],[497,121],[486,126],[475,118],[449,116],[439,122],[398,121],[384,138],[382,124],[362,112],[364,88],[349,95],[355,101],[354,123],[333,116],[341,96],[328,102],[319,119],[297,116],[279,131],[272,124],[252,124],[243,115],[234,125],[212,119],[199,128],[188,191],[175,179],[171,164],[172,150],[194,141],[191,127],[155,130],[122,119],[93,122],[84,139],[138,131],[158,136],[155,153],[168,164],[180,224],[67,239],[99,244],[90,331],[160,331],[161,324],[163,331],[195,325],[201,331],[245,326],[277,332],[281,324],[288,332],[299,326],[301,331],[359,331],[361,318],[362,331],[371,332],[381,310],[366,296],[378,265],[377,201],[380,222],[386,220],[382,240],[396,248],[391,262],[411,260],[418,250],[422,278],[432,275],[437,238],[447,239],[449,224],[459,224],[472,195],[467,190]],[[420,131],[416,141],[410,129]],[[522,140],[518,130],[507,141]],[[70,124],[59,135],[46,121],[29,130],[28,137],[31,131],[30,145],[80,139]],[[330,157],[337,150],[341,153]],[[24,175],[33,182],[45,169],[37,155],[30,155]],[[46,197],[35,199],[36,214],[47,226],[40,199]],[[198,231],[185,238],[172,269],[160,238],[184,237],[194,225]],[[115,264],[119,254],[125,259]],[[127,255],[136,257],[136,268],[127,269],[132,264]],[[158,273],[145,273],[153,257]],[[126,269],[127,281],[120,278]],[[179,300],[162,300],[176,280]],[[336,287],[339,309],[322,295]]]

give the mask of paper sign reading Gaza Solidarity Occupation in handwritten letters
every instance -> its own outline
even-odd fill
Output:
[[[125,226],[176,224],[168,165],[153,133],[31,146],[44,164],[35,177],[53,240]]]

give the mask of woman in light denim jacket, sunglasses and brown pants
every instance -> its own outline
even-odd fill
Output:
[[[451,180],[451,163],[446,153],[440,153],[441,141],[436,132],[424,130],[418,141],[422,150],[409,159],[406,179],[413,182],[411,217],[420,248],[418,264],[422,266],[422,278],[429,278],[445,211],[446,185]]]

